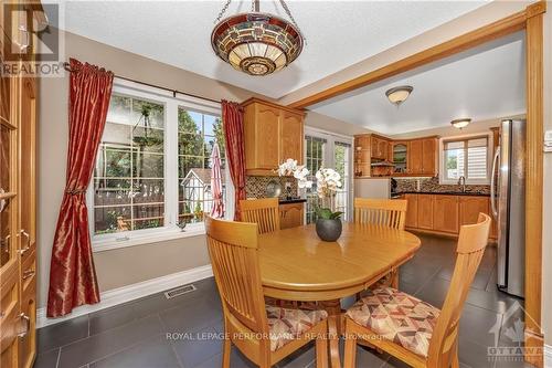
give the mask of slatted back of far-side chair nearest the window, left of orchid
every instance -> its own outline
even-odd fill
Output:
[[[279,230],[277,198],[243,199],[240,201],[242,221],[258,224],[258,233]]]

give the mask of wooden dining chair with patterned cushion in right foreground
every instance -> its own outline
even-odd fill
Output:
[[[346,313],[344,367],[354,367],[357,343],[375,346],[412,367],[458,368],[461,309],[487,246],[490,218],[460,229],[453,280],[443,305],[384,287],[370,291]]]

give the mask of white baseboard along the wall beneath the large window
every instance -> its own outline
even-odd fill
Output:
[[[177,272],[170,275],[142,281],[136,284],[109,290],[100,294],[100,302],[93,305],[79,306],[66,316],[60,318],[46,318],[46,308],[36,309],[36,328],[54,325],[60,322],[68,320],[88,313],[105,309],[117,304],[127,303],[144,296],[156,294],[168,288],[189,284],[194,281],[213,276],[211,265],[204,265],[192,270]]]

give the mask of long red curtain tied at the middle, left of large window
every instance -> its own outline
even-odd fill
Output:
[[[99,302],[86,210],[86,188],[104,132],[113,73],[71,59],[66,186],[50,266],[47,316]]]

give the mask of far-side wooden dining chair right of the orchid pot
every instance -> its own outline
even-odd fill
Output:
[[[371,223],[404,230],[406,206],[404,199],[354,198],[354,223]],[[399,288],[399,270],[393,269],[374,284],[374,287]],[[357,294],[359,299],[361,294]]]

